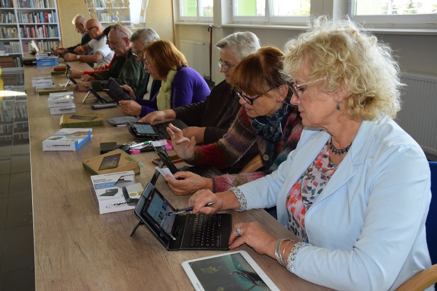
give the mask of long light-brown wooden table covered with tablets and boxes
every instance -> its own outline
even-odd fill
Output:
[[[85,64],[71,63],[73,68]],[[28,94],[35,279],[37,290],[192,290],[181,263],[185,260],[218,254],[217,251],[169,252],[146,227],[130,233],[138,221],[133,211],[98,214],[90,174],[82,161],[99,154],[100,142],[132,141],[125,127],[106,121],[93,127],[93,137],[72,152],[43,152],[42,141],[60,129],[60,115],[50,115],[47,96],[38,96],[31,87],[34,76],[48,76],[51,68],[25,67]],[[64,75],[53,76],[58,85]],[[70,86],[74,90],[74,86]],[[93,112],[83,105],[85,92],[74,91],[77,113]],[[122,116],[120,108],[98,110],[105,117]],[[170,153],[172,154],[172,153]],[[145,185],[154,172],[154,153],[133,155],[144,163],[136,181]],[[163,177],[156,187],[175,207],[186,207],[188,197],[173,195]],[[292,236],[264,210],[243,213],[230,211],[233,222],[260,221],[278,237]],[[326,290],[289,273],[274,259],[244,246],[280,289]]]

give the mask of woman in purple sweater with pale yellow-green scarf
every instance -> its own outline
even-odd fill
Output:
[[[160,90],[150,99],[136,97],[127,85],[122,88],[135,101],[120,101],[123,113],[143,117],[146,114],[205,100],[210,90],[205,79],[187,67],[185,56],[168,40],[152,41],[145,46],[144,69],[153,80],[161,80]]]

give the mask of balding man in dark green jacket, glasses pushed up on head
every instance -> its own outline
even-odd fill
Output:
[[[147,79],[147,71],[143,69],[143,63],[137,61],[132,53],[130,37],[132,32],[125,26],[113,25],[108,34],[108,44],[115,53],[111,67],[100,73],[91,73],[82,76],[81,82],[76,87],[81,91],[88,91],[83,84],[91,86],[96,91],[102,91],[109,77],[117,80],[120,85],[128,85],[135,94],[144,94],[144,82]]]

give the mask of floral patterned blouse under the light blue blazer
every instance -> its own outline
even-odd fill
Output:
[[[308,237],[305,232],[305,214],[337,169],[330,162],[328,143],[329,141],[287,195],[288,229],[306,243]]]

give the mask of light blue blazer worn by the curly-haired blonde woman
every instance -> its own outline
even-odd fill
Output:
[[[287,226],[287,194],[329,137],[306,128],[277,171],[239,186],[247,209],[277,204],[277,219]],[[425,237],[430,200],[430,170],[419,144],[388,117],[363,121],[306,213],[310,246],[297,253],[291,272],[339,290],[396,289],[431,265]]]

